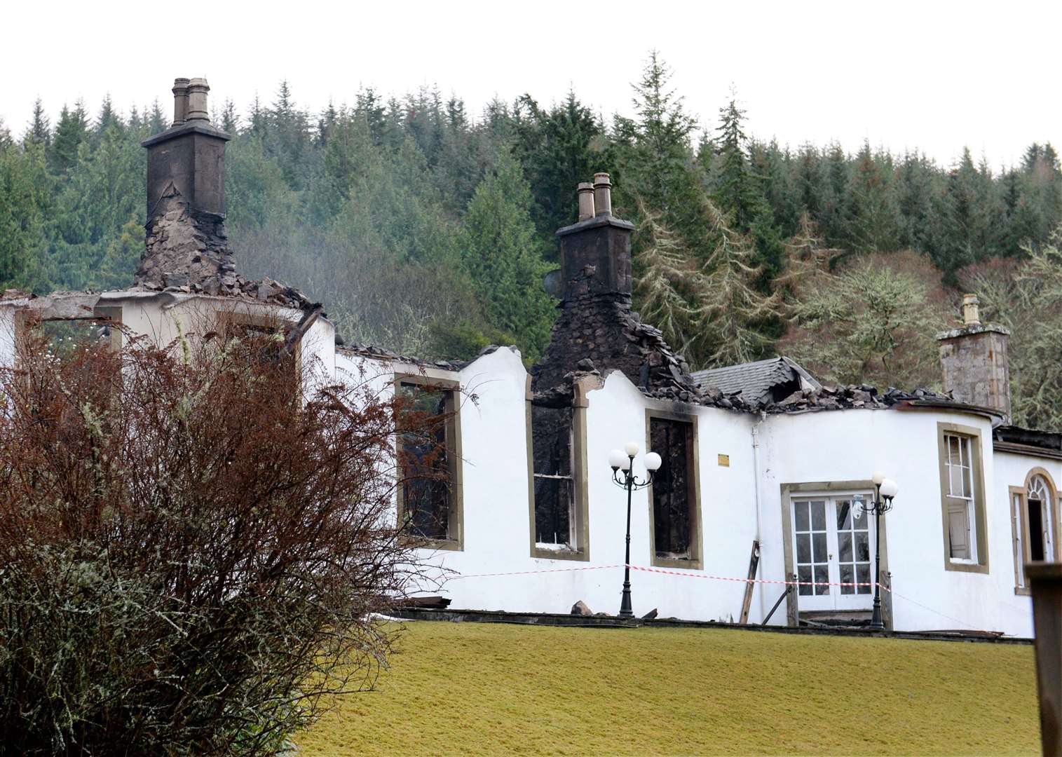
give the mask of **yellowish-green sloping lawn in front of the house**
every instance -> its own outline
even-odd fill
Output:
[[[1040,751],[1027,646],[421,621],[398,650],[301,756]]]

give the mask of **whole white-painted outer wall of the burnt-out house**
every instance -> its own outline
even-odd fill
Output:
[[[297,311],[225,300],[241,309],[280,313]],[[216,298],[116,292],[101,305],[121,305],[123,322],[159,342],[202,323],[204,312],[219,307]],[[0,360],[11,364],[14,308],[0,308]],[[303,347],[304,364],[322,381],[341,380],[388,386],[396,367],[419,368],[337,354],[335,331],[319,320]],[[1013,453],[992,454],[990,423],[980,416],[944,410],[846,410],[790,415],[754,415],[715,408],[671,405],[645,397],[619,372],[588,393],[586,455],[588,464],[588,554],[586,562],[533,557],[528,495],[526,399],[527,372],[519,352],[499,348],[460,372],[429,368],[439,378],[460,381],[463,452],[463,551],[436,551],[434,564],[468,578],[451,579],[444,593],[453,607],[511,612],[567,613],[578,601],[595,612],[616,613],[623,562],[626,494],[611,480],[609,451],[628,441],[646,438],[646,409],[692,413],[698,417],[703,569],[673,569],[678,575],[632,571],[634,612],[657,608],[662,617],[736,620],[754,538],[760,540],[758,577],[784,580],[782,484],[866,480],[883,469],[901,486],[887,518],[889,569],[892,571],[894,625],[900,630],[970,627],[1031,634],[1029,600],[1014,593],[1013,532],[1008,485],[1021,486],[1031,467],[1046,468],[1062,484],[1062,463]],[[989,493],[989,573],[944,569],[937,424],[972,426],[982,437],[981,466]],[[753,430],[758,430],[758,468]],[[729,466],[719,455],[729,457]],[[636,462],[637,472],[644,470]],[[757,485],[758,484],[758,485]],[[758,499],[757,499],[758,493]],[[758,515],[758,530],[757,530]],[[651,566],[649,499],[646,491],[632,499],[631,563]],[[1062,535],[1060,535],[1062,537]],[[523,575],[482,573],[556,570]],[[693,578],[705,577],[705,578]],[[431,593],[435,587],[425,586]],[[757,585],[750,622],[759,622],[782,587]],[[786,622],[784,606],[772,623]]]

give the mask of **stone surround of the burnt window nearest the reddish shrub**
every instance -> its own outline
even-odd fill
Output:
[[[461,394],[461,382],[457,379],[442,378],[421,373],[395,372],[392,380],[392,388],[395,392],[400,391],[401,384],[414,384],[417,386],[428,386],[442,390],[447,393],[446,405],[447,414],[445,435],[446,435],[446,466],[450,474],[450,499],[449,513],[446,518],[446,530],[448,537],[445,539],[427,536],[414,536],[406,534],[402,536],[407,544],[425,549],[442,549],[453,552],[464,551],[464,486],[462,482],[463,458],[461,457],[461,402],[458,397]],[[400,461],[397,459],[398,445],[401,444],[400,434],[395,434],[395,517],[397,523],[402,521],[405,513],[405,495],[400,482],[401,471],[398,469]]]

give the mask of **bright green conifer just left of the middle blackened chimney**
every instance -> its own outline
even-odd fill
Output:
[[[536,359],[549,342],[553,303],[543,289],[547,265],[531,221],[531,189],[508,152],[476,189],[461,234],[462,262],[490,322]]]

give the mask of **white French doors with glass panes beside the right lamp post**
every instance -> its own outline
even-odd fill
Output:
[[[855,517],[860,499],[871,501],[869,494],[793,499],[793,565],[802,582],[796,587],[801,609],[870,609],[873,586],[838,585],[872,580],[873,518]]]

